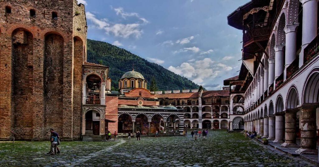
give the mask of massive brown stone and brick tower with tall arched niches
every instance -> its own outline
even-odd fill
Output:
[[[79,139],[85,8],[0,0],[0,137]]]

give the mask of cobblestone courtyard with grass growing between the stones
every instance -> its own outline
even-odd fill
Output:
[[[48,149],[48,142],[0,143],[0,166],[315,166],[221,130],[196,141],[189,135],[62,142],[56,156],[45,154]]]

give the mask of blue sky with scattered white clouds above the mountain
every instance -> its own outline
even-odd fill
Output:
[[[208,90],[239,73],[242,32],[227,25],[227,16],[249,0],[78,2],[85,4],[89,39],[129,50]]]

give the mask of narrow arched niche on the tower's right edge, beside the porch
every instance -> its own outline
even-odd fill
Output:
[[[82,102],[82,64],[84,59],[83,40],[73,38],[73,134],[81,133],[81,102]],[[73,136],[79,138],[80,136]]]

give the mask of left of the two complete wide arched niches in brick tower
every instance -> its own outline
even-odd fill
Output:
[[[32,138],[33,119],[33,33],[25,28],[12,30],[12,109],[14,131]]]

